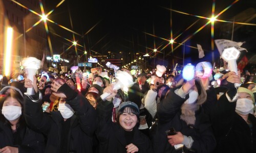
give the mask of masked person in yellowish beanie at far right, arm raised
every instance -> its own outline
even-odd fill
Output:
[[[256,118],[253,113],[254,95],[240,83],[235,72],[228,73],[228,91],[212,113],[212,127],[217,140],[215,152],[256,152]]]

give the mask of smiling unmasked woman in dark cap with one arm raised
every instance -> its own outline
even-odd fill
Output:
[[[153,152],[150,140],[138,130],[139,108],[132,101],[124,101],[119,105],[116,122],[111,120],[114,104],[113,97],[117,90],[113,84],[103,92],[111,93],[105,101],[97,106],[99,152]]]

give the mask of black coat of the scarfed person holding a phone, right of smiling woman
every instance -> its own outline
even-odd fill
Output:
[[[167,140],[166,130],[174,127],[177,132],[181,132],[185,136],[190,136],[194,140],[190,149],[183,147],[184,152],[212,152],[216,146],[216,140],[212,133],[211,123],[208,115],[204,113],[202,108],[196,111],[196,122],[194,125],[187,125],[187,123],[180,119],[181,106],[186,99],[181,98],[174,93],[174,89],[166,95],[157,105],[158,113],[158,128],[153,135],[153,145],[155,152],[182,152],[182,150],[175,150]]]

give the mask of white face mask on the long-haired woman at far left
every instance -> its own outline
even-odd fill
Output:
[[[9,121],[17,119],[20,115],[22,115],[22,107],[19,106],[3,106],[2,114]]]

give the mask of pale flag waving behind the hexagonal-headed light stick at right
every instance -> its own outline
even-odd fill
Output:
[[[222,55],[222,52],[225,48],[229,48],[229,47],[235,47],[239,51],[246,50],[245,48],[241,47],[244,42],[236,42],[236,41],[231,41],[227,39],[216,39],[214,41],[219,50],[220,55]],[[246,52],[248,51],[246,50]]]

